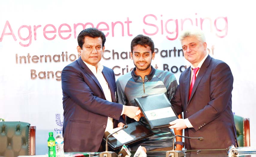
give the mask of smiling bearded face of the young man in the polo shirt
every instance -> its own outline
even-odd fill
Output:
[[[144,47],[137,45],[133,47],[133,53],[131,52],[131,59],[138,71],[146,72],[151,66],[151,60],[154,60],[155,52],[151,53],[149,46]],[[149,71],[150,72],[150,71]]]

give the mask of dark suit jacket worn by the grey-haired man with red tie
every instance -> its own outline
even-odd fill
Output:
[[[189,67],[180,75],[171,104],[177,115],[184,112],[184,119],[188,118],[193,126],[184,130],[185,136],[203,137],[204,140],[185,139],[185,147],[194,150],[225,149],[231,144],[236,146],[231,102],[233,75],[229,66],[208,55],[199,69],[188,100],[190,79]]]

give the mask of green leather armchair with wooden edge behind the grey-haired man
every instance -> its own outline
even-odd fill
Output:
[[[234,115],[237,129],[237,143],[239,147],[249,147],[250,144],[250,121],[249,118]]]

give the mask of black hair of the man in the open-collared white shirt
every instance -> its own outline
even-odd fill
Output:
[[[78,45],[81,47],[81,49],[83,49],[84,38],[86,36],[89,36],[91,38],[101,37],[102,47],[104,46],[104,44],[106,42],[106,37],[102,31],[100,31],[97,28],[87,28],[87,29],[82,30],[77,37],[77,42],[78,42]]]

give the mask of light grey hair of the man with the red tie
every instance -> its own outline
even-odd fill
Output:
[[[196,36],[199,41],[206,42],[204,32],[198,27],[190,27],[188,29],[184,29],[179,36],[179,40],[182,41],[184,38],[190,36]]]

